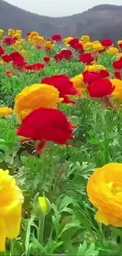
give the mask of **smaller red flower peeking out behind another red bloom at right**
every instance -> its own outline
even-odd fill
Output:
[[[83,72],[83,80],[85,83],[91,84],[95,81],[101,80],[101,75],[98,72]]]

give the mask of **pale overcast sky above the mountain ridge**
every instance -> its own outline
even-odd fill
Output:
[[[122,6],[122,0],[6,0],[32,13],[41,15],[61,17],[73,13],[82,13],[93,6],[100,4],[116,4]]]

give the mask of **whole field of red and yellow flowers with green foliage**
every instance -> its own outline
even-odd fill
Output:
[[[0,29],[0,255],[122,254],[121,51]]]

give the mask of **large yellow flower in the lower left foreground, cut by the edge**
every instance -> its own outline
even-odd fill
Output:
[[[15,239],[20,233],[21,208],[24,197],[9,171],[0,169],[0,252],[6,250],[6,238]]]

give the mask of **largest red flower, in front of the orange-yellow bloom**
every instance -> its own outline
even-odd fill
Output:
[[[68,140],[73,139],[73,126],[60,110],[41,108],[25,117],[17,135],[38,141],[36,154],[39,154],[46,142],[70,145]]]

